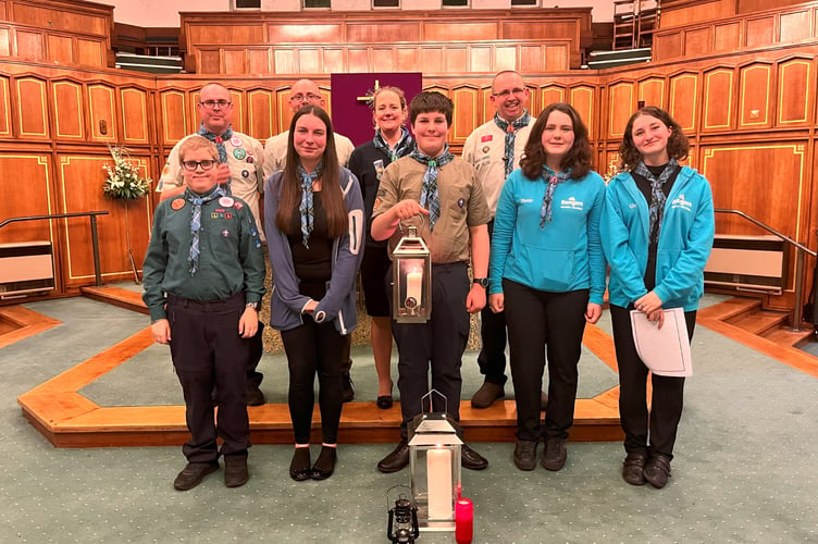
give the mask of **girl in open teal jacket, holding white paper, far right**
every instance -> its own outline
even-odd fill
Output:
[[[648,369],[636,354],[630,312],[645,312],[661,326],[662,309],[683,308],[693,337],[715,232],[712,194],[704,176],[679,164],[687,158],[687,138],[659,108],[631,116],[619,156],[625,172],[608,185],[602,232],[625,434],[622,478],[659,489],[670,477],[684,378],[652,374],[648,415]]]

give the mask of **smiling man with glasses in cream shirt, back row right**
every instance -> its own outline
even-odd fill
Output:
[[[463,159],[478,171],[483,184],[492,220],[488,235],[494,230],[494,214],[497,199],[506,177],[519,168],[520,158],[529,140],[529,133],[535,119],[529,115],[529,89],[522,76],[507,70],[492,81],[492,103],[494,119],[476,127],[463,145]],[[484,282],[487,286],[487,281]],[[488,408],[506,393],[506,318],[503,312],[494,313],[486,305],[481,311],[480,335],[483,347],[478,356],[483,385],[474,393],[471,405],[474,408]]]

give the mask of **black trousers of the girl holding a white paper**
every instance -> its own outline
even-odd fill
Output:
[[[630,308],[610,306],[614,343],[619,366],[619,418],[624,431],[624,450],[673,457],[673,445],[684,407],[684,378],[650,374],[653,395],[647,409],[647,367],[636,354]],[[684,312],[687,337],[693,339],[696,311]],[[649,429],[649,443],[648,443]]]

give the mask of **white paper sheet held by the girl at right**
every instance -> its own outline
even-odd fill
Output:
[[[680,378],[692,375],[693,361],[684,310],[673,308],[664,312],[665,324],[659,329],[657,321],[647,320],[647,314],[631,310],[636,353],[654,374]]]

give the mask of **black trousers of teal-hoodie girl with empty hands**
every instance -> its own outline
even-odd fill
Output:
[[[503,280],[511,380],[517,403],[517,437],[567,438],[573,425],[577,384],[585,331],[587,289],[550,293]],[[540,426],[540,393],[546,353],[548,406]]]

